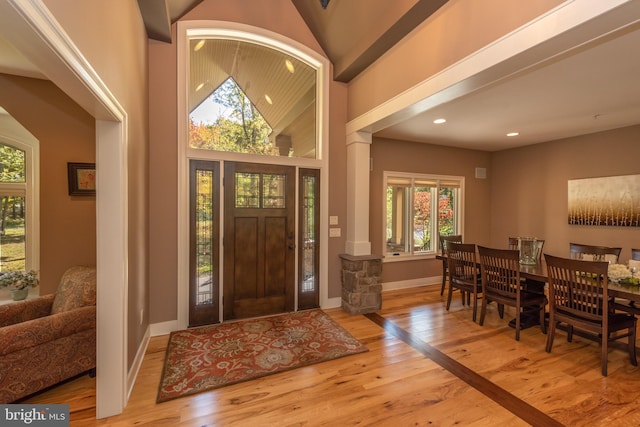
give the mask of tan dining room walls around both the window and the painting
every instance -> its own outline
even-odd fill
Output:
[[[621,261],[640,247],[640,228],[567,223],[569,179],[640,174],[640,126],[495,153],[374,138],[371,147],[371,246],[382,254],[383,171],[465,176],[464,241],[498,248],[510,236],[545,239],[544,252],[569,255],[569,242],[620,246]],[[487,168],[476,179],[475,167]],[[442,274],[437,260],[387,262],[383,283]]]

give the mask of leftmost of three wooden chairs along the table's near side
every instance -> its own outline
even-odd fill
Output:
[[[476,262],[476,245],[473,243],[449,242],[447,246],[447,261],[449,270],[449,293],[447,294],[447,311],[451,306],[454,289],[462,292],[462,305],[465,305],[466,293],[473,301],[473,321],[476,321],[478,299],[482,297],[482,283]],[[468,302],[467,302],[468,303]]]

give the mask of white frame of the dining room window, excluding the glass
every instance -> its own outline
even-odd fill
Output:
[[[408,180],[409,184],[409,199],[405,203],[409,208],[404,215],[404,219],[406,221],[406,226],[403,227],[403,233],[411,238],[411,242],[409,242],[409,251],[408,252],[390,252],[387,250],[387,187],[389,185],[389,181],[392,179],[400,179],[400,180]],[[452,183],[455,182],[458,185],[458,194],[456,196],[456,200],[454,201],[454,218],[455,218],[455,230],[453,234],[464,234],[464,188],[465,188],[465,177],[464,176],[452,176],[452,175],[435,175],[435,174],[419,174],[419,173],[408,173],[408,172],[394,172],[394,171],[384,171],[383,172],[383,185],[382,185],[382,244],[381,250],[383,255],[383,262],[397,262],[397,261],[412,261],[416,259],[429,259],[435,258],[437,254],[440,253],[440,242],[439,239],[435,238],[433,240],[433,247],[429,251],[420,251],[417,252],[415,250],[415,245],[413,244],[413,237],[411,236],[411,230],[414,230],[414,209],[413,209],[413,195],[416,185],[416,181],[432,181],[435,182],[435,193],[438,194],[441,188],[441,183]],[[442,187],[447,187],[446,185],[442,185]],[[432,203],[431,206],[431,216],[432,218],[438,218],[438,204]],[[439,221],[433,221],[431,225],[431,235],[438,236],[439,230]]]

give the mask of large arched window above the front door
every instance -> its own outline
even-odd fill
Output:
[[[189,147],[317,159],[317,71],[250,41],[189,39]]]

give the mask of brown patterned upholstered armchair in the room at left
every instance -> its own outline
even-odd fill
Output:
[[[0,305],[0,403],[95,366],[95,268],[69,268],[55,294]]]

